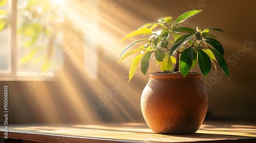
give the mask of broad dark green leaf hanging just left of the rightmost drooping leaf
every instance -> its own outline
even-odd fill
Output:
[[[207,77],[208,74],[210,73],[211,61],[209,56],[199,48],[198,48],[198,64],[199,64],[201,73],[205,77]]]

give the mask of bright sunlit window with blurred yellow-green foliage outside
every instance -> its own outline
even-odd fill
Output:
[[[47,22],[59,16],[48,8],[49,2],[1,1],[1,78],[33,77],[46,72],[44,68],[56,57],[53,53],[61,46],[62,33]],[[52,77],[53,70],[47,75]]]

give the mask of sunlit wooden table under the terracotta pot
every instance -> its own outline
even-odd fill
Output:
[[[4,139],[3,125],[0,142],[256,142],[256,123],[204,122],[194,134],[156,134],[146,124],[105,125],[10,125]],[[1,140],[2,139],[2,140]]]

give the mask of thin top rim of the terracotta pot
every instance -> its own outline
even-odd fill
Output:
[[[148,75],[149,77],[154,77],[157,79],[165,79],[165,78],[200,78],[201,74],[195,73],[188,73],[186,77],[183,77],[181,73],[151,73]]]

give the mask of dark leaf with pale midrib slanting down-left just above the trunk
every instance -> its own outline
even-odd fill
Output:
[[[175,52],[177,52],[181,47],[190,39],[194,37],[193,34],[187,34],[180,36],[174,43],[174,45],[170,48],[169,56],[173,56]]]

